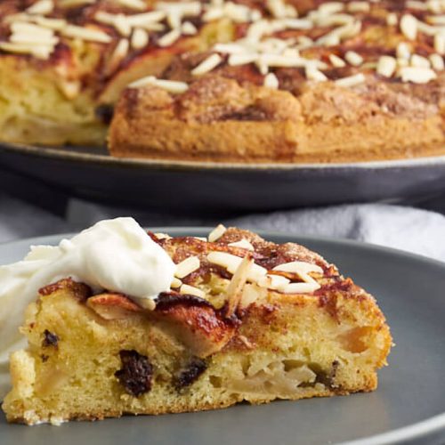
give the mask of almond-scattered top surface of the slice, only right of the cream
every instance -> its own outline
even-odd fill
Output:
[[[176,263],[172,288],[192,295],[196,288],[194,295],[205,297],[217,308],[226,305],[231,294],[222,292],[222,288],[218,290],[218,280],[236,281],[234,276],[242,269],[242,259],[250,263],[242,281],[272,294],[320,296],[347,289],[351,296],[358,295],[359,288],[350,279],[344,279],[336,266],[295,243],[276,244],[252,231],[225,229],[222,225],[217,226],[208,239],[150,236]]]

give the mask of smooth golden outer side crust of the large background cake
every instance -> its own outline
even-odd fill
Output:
[[[394,119],[374,127],[322,124],[309,131],[290,122],[184,125],[157,118],[128,123],[117,117],[109,151],[117,158],[330,164],[441,156],[445,139],[437,117]]]

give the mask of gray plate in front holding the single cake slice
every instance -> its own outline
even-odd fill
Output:
[[[198,229],[171,234],[203,235]],[[369,292],[392,327],[397,346],[380,371],[376,392],[307,401],[242,404],[230,409],[158,417],[72,422],[59,427],[7,425],[2,445],[349,445],[445,442],[445,264],[350,241],[266,233],[297,241],[336,263]],[[29,244],[57,243],[61,236],[0,246],[0,263],[20,259]]]

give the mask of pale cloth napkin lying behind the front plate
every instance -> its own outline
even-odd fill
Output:
[[[445,261],[445,216],[413,207],[385,204],[288,210],[221,220],[212,216],[183,217],[154,211],[129,211],[72,199],[66,218],[61,218],[0,193],[0,242],[79,231],[101,219],[124,215],[134,216],[147,227],[224,223],[253,230],[357,239]]]

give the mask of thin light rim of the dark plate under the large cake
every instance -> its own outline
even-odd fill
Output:
[[[72,147],[76,149],[76,147]],[[93,147],[77,147],[77,149],[94,150]],[[97,148],[100,149],[99,147]],[[70,162],[84,164],[101,164],[104,166],[125,166],[131,168],[153,168],[159,170],[185,170],[185,171],[302,171],[302,170],[339,170],[345,168],[384,170],[388,168],[412,168],[432,165],[445,166],[445,154],[439,156],[390,159],[362,162],[340,163],[236,163],[214,161],[190,161],[155,158],[117,158],[109,155],[95,154],[84,151],[65,150],[61,147],[36,146],[19,142],[1,142],[0,151],[14,154],[34,156],[36,158],[62,159]]]

